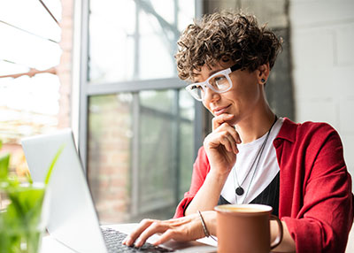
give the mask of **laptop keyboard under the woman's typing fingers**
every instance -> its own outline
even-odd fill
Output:
[[[109,253],[116,252],[150,252],[150,253],[162,253],[162,252],[173,252],[169,249],[165,249],[162,247],[154,246],[149,242],[145,242],[142,247],[128,247],[127,245],[123,245],[121,242],[127,237],[127,234],[121,233],[112,228],[102,228],[102,232],[104,234],[105,245],[107,246]]]

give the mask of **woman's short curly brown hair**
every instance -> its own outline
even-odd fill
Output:
[[[272,68],[281,51],[281,38],[258,27],[255,16],[242,12],[216,12],[204,15],[183,31],[175,55],[181,80],[193,80],[194,71],[220,60],[232,60],[250,72],[269,63]]]

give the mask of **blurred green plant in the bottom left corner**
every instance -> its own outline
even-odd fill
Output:
[[[2,142],[0,141],[0,149]],[[10,173],[10,154],[0,154],[0,253],[37,253],[45,229],[46,186],[63,148],[59,149],[43,183]]]

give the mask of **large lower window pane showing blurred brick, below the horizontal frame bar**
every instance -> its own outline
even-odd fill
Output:
[[[194,108],[182,116],[181,93],[89,98],[89,185],[101,222],[173,216],[194,155]]]

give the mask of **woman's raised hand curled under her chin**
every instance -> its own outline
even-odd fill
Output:
[[[212,119],[212,133],[204,139],[204,149],[212,170],[218,173],[229,173],[236,162],[237,144],[241,143],[235,127],[227,121],[234,115],[223,113]]]

